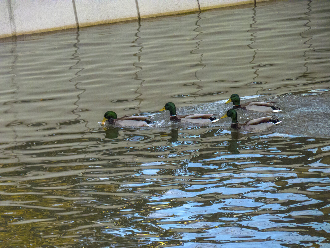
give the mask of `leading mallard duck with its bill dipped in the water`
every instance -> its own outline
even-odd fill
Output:
[[[106,121],[110,124],[128,127],[148,127],[150,123],[154,123],[148,119],[148,116],[126,115],[124,117],[117,118],[117,114],[114,111],[105,112],[101,124],[104,125]]]

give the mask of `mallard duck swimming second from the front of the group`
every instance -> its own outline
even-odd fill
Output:
[[[165,106],[159,111],[169,110],[170,111],[170,121],[179,122],[187,121],[196,124],[209,124],[216,122],[219,119],[211,117],[213,114],[188,114],[188,115],[177,115],[174,103],[166,103]]]

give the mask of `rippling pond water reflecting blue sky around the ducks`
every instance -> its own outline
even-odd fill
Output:
[[[1,247],[330,247],[329,14],[276,1],[0,43]],[[169,101],[221,116],[232,93],[282,123],[99,125]]]

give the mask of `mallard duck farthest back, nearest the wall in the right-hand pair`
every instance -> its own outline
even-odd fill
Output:
[[[242,108],[242,109],[248,109],[258,112],[280,112],[282,111],[279,107],[275,107],[273,103],[267,103],[267,102],[248,102],[248,103],[242,103],[239,95],[233,94],[230,96],[230,99],[226,102],[230,103],[233,102],[233,108]]]

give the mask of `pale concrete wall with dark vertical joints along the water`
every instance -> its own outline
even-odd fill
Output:
[[[0,0],[0,38],[247,3],[254,0]]]

